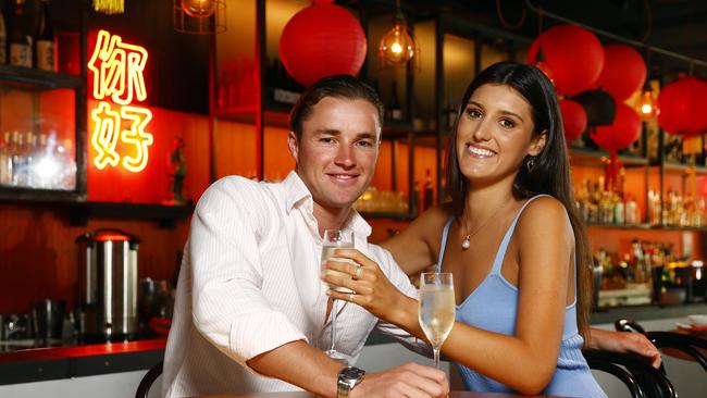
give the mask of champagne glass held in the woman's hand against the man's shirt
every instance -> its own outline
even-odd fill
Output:
[[[322,242],[322,273],[326,273],[327,275],[333,275],[333,276],[338,276],[338,277],[345,277],[345,278],[351,278],[351,275],[345,273],[345,272],[339,272],[339,271],[334,271],[334,270],[326,270],[324,268],[324,263],[328,260],[335,260],[335,261],[343,261],[343,262],[350,262],[348,259],[340,259],[334,257],[334,251],[336,249],[352,249],[354,248],[354,233],[352,232],[345,232],[340,229],[324,229],[324,239]],[[345,288],[345,287],[336,287],[328,285],[330,288],[339,291],[339,293],[350,293],[351,290]],[[338,352],[335,349],[335,344],[336,344],[336,304],[337,300],[333,299],[332,300],[332,343],[328,348],[328,350],[325,351],[325,353],[332,358],[335,359],[339,362],[348,362],[348,357],[345,353]]]

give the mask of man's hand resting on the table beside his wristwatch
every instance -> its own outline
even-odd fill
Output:
[[[445,372],[406,363],[380,373],[367,373],[351,398],[442,398],[449,394]]]

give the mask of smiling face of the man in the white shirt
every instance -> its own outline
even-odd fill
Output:
[[[315,206],[350,207],[368,188],[379,157],[381,122],[362,99],[325,97],[302,122],[302,135],[288,137],[289,150]]]

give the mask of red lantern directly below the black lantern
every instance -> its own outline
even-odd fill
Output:
[[[592,139],[599,147],[609,151],[628,148],[641,134],[641,119],[625,103],[617,103],[613,123],[609,126],[598,126]]]

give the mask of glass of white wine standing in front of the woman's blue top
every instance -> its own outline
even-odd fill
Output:
[[[420,275],[420,326],[434,351],[439,369],[439,349],[455,325],[455,285],[451,273],[425,272]]]

